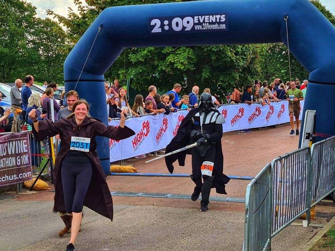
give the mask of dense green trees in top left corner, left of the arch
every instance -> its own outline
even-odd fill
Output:
[[[36,17],[36,7],[20,0],[0,0],[0,81],[27,74],[36,81],[64,82],[68,35],[55,21]]]

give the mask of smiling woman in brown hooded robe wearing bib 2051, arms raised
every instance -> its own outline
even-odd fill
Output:
[[[88,110],[88,103],[78,100],[72,107],[73,114],[58,122],[38,120],[35,109],[29,113],[34,122],[32,132],[38,140],[59,134],[62,142],[54,168],[54,212],[72,214],[71,239],[66,250],[74,250],[83,205],[113,220],[112,196],[95,151],[95,136],[122,140],[135,134],[125,126],[126,109],[121,112],[118,128],[87,116]]]

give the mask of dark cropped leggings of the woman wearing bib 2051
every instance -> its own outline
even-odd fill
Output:
[[[92,178],[92,164],[63,161],[61,176],[66,212],[80,213]]]

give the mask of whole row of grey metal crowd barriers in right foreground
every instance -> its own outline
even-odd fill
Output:
[[[244,250],[271,250],[271,238],[335,191],[335,136],[279,156],[246,189]]]

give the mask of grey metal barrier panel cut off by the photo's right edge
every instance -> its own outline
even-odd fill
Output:
[[[335,136],[314,143],[312,152],[312,206],[335,189]]]

